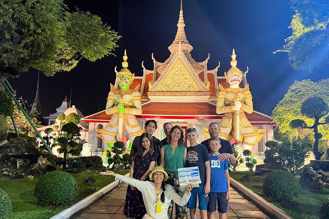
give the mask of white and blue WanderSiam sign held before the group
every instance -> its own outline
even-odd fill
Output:
[[[198,187],[201,183],[200,172],[198,166],[185,167],[178,169],[179,187],[193,184],[193,187]]]

